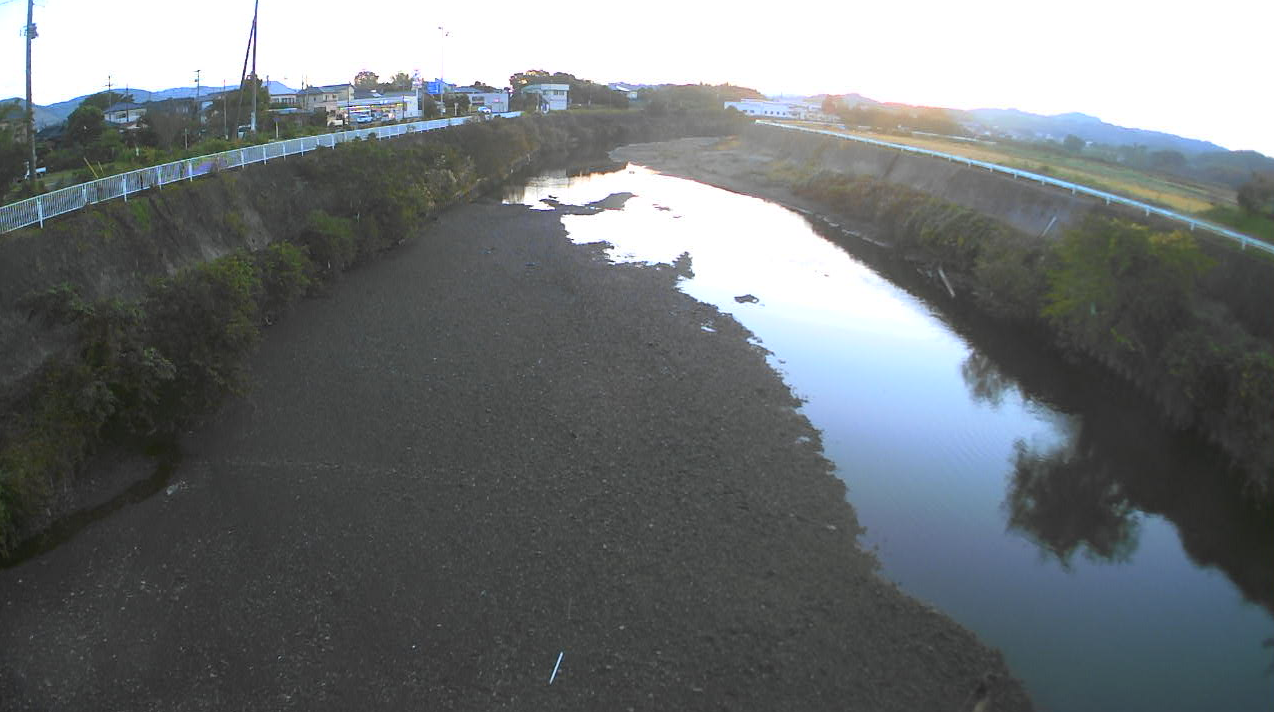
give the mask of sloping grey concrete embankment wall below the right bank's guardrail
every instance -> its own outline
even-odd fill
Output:
[[[757,150],[854,177],[908,186],[996,218],[1027,234],[1052,234],[1106,205],[1065,190],[962,163],[859,141],[754,125],[744,139]],[[1050,223],[1052,225],[1050,227]]]

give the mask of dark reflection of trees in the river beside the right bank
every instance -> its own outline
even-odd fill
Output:
[[[1019,391],[1028,405],[1046,406],[1063,437],[1059,446],[1015,445],[1003,503],[1010,531],[1065,568],[1075,552],[1124,563],[1136,552],[1143,513],[1158,515],[1176,526],[1195,564],[1219,568],[1274,614],[1274,502],[1245,492],[1215,448],[1163,425],[1120,385],[994,331],[978,338],[990,354],[971,350],[961,367],[973,399],[999,406]]]

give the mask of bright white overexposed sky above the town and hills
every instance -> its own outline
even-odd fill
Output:
[[[744,10],[743,8],[748,8]],[[759,9],[757,9],[759,8]],[[0,0],[0,97],[25,94],[25,0]],[[252,0],[37,0],[37,104],[116,87],[238,82]],[[438,27],[446,28],[443,36]],[[419,73],[496,87],[729,82],[949,108],[1083,112],[1274,157],[1270,0],[260,0],[257,71],[290,87]]]

